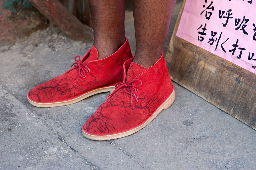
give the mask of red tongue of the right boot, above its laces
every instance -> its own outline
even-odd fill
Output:
[[[146,68],[143,67],[142,65],[139,65],[137,63],[131,63],[131,65],[126,73],[125,82],[133,80],[136,76],[138,76],[145,70],[146,70]]]

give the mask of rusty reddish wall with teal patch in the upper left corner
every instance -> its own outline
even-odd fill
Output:
[[[0,46],[12,44],[48,25],[48,19],[29,2],[0,0]]]

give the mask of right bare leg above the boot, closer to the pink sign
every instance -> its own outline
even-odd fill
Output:
[[[161,57],[176,0],[134,0],[134,63],[151,67]]]

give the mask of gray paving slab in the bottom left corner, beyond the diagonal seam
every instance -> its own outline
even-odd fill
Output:
[[[0,86],[1,169],[97,169]]]

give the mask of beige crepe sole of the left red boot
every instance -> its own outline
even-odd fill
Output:
[[[37,102],[31,101],[28,97],[27,98],[28,98],[28,102],[30,104],[37,106],[37,107],[56,107],[56,106],[65,106],[65,105],[73,104],[73,103],[79,102],[85,98],[88,98],[89,96],[92,96],[94,94],[108,92],[108,91],[112,92],[114,90],[115,90],[115,86],[101,87],[101,88],[94,89],[90,92],[84,93],[83,95],[81,95],[75,99],[63,101],[63,102],[55,102],[55,103],[37,103]]]

